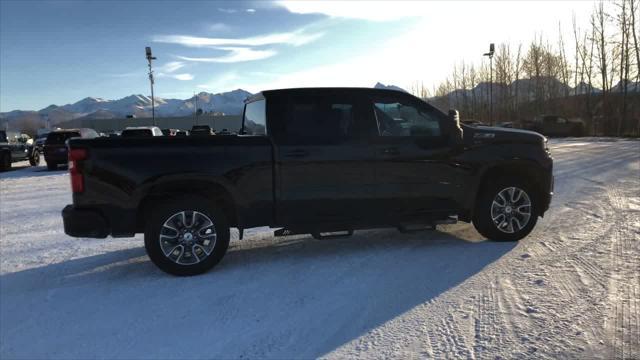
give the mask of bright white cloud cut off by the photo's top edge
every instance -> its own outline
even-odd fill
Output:
[[[372,21],[420,17],[433,8],[428,1],[278,1],[276,3],[295,14],[324,14],[337,18]],[[443,14],[449,16],[450,14]]]

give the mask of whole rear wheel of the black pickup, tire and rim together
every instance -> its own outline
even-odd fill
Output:
[[[151,261],[179,276],[202,274],[222,260],[229,247],[229,224],[204,198],[186,196],[154,206],[144,244]]]

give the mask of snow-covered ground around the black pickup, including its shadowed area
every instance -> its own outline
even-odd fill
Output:
[[[640,142],[551,148],[552,207],[519,243],[258,229],[191,278],[141,236],[67,237],[65,171],[0,174],[0,358],[638,359]]]

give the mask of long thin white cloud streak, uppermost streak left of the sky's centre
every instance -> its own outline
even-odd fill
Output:
[[[263,46],[274,44],[286,44],[300,46],[308,44],[322,37],[323,33],[304,34],[301,31],[288,33],[276,33],[269,35],[254,36],[241,39],[228,38],[208,38],[188,35],[159,35],[153,38],[154,42],[179,44],[188,47],[216,47],[216,46]]]

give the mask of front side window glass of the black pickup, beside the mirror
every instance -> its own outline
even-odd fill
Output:
[[[382,136],[439,137],[440,116],[426,106],[404,99],[377,99],[374,112]]]

